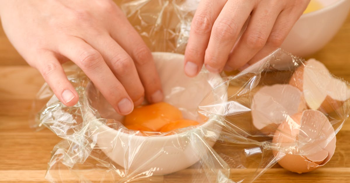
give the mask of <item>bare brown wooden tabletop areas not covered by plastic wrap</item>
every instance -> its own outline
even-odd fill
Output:
[[[350,81],[349,49],[350,15],[338,34],[311,57]],[[48,129],[35,132],[28,126],[31,103],[42,84],[41,75],[26,64],[0,27],[0,182],[46,182],[50,151],[60,138]],[[337,134],[336,152],[323,168],[298,175],[275,165],[255,182],[350,182],[350,123]]]

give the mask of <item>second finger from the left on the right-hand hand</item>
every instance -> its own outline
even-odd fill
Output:
[[[219,73],[223,70],[240,30],[253,8],[254,4],[251,1],[226,2],[213,25],[205,51],[204,65],[210,72]]]

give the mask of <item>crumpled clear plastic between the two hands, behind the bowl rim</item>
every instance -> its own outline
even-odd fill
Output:
[[[114,0],[153,52],[184,53],[200,0]]]

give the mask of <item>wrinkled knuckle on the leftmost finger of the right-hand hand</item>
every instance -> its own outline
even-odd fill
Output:
[[[209,17],[210,15],[208,13],[202,12],[194,16],[192,20],[192,26],[195,33],[205,34],[211,32],[212,21]]]

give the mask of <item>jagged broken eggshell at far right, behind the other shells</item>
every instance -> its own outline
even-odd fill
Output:
[[[335,77],[323,63],[309,59],[295,70],[289,84],[299,88],[310,109],[331,113],[350,98],[348,85]]]

